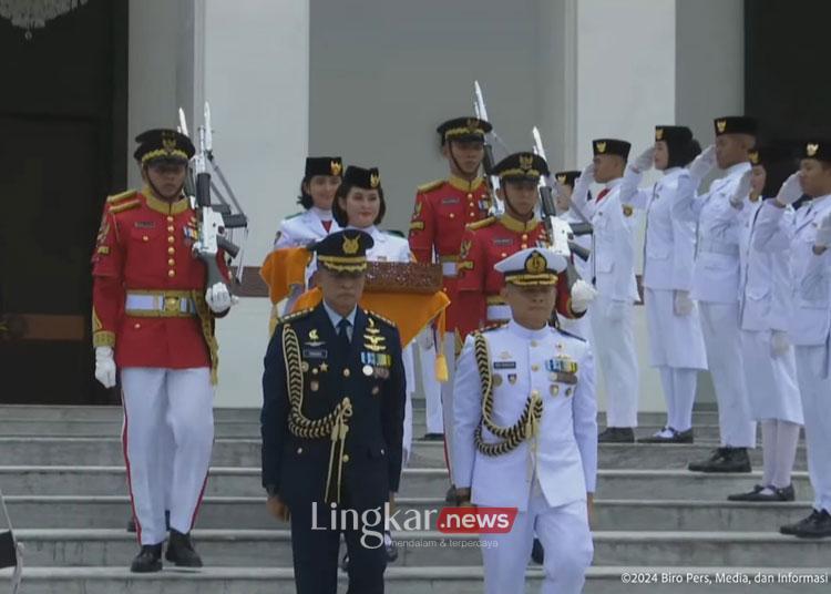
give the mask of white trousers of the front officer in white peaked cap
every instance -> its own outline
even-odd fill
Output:
[[[534,481],[536,482],[536,480]],[[527,511],[516,514],[506,534],[482,534],[485,594],[525,592],[525,570],[534,534],[545,549],[542,594],[579,594],[592,565],[594,545],[585,501],[552,508],[537,487]]]

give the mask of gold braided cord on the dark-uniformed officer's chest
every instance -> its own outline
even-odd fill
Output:
[[[288,398],[291,410],[288,417],[288,430],[301,439],[331,440],[329,450],[329,472],[326,475],[326,501],[340,502],[340,484],[343,477],[343,449],[349,433],[349,419],[352,417],[352,402],[343,398],[335,410],[321,419],[309,419],[302,413],[302,358],[300,357],[300,341],[290,324],[283,326],[283,358],[286,362],[286,378],[288,382]],[[338,484],[331,495],[332,471],[338,464]]]

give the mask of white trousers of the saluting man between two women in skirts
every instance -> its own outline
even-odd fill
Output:
[[[745,382],[739,304],[699,301],[707,363],[718,401],[718,426],[724,448],[755,448],[756,422]]]

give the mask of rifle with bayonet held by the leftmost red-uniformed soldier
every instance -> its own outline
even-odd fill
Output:
[[[182,122],[184,123],[184,114],[182,114]],[[225,176],[214,162],[211,106],[207,102],[205,102],[205,122],[198,127],[198,134],[199,146],[196,155],[194,155],[197,238],[194,242],[193,250],[205,263],[207,267],[207,286],[212,287],[216,283],[225,283],[216,262],[219,249],[223,249],[232,258],[236,258],[240,254],[240,247],[228,239],[226,232],[242,228],[246,231],[247,237],[248,217],[243,213],[233,191],[230,191],[230,186],[227,185]],[[213,183],[211,172],[208,171],[208,163],[211,164],[211,168],[217,173],[219,181],[225,185],[237,208],[236,213],[232,212],[230,205]],[[218,204],[212,203],[212,188],[216,191],[216,195],[219,197]],[[237,266],[237,281],[242,280],[242,270],[240,258]]]

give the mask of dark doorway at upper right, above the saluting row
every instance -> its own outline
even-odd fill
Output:
[[[745,0],[745,106],[762,139],[831,137],[828,0]]]

